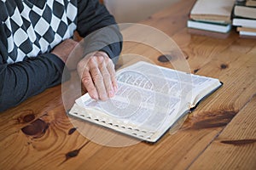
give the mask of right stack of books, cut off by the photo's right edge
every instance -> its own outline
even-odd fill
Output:
[[[232,25],[241,37],[256,37],[256,0],[236,2]]]

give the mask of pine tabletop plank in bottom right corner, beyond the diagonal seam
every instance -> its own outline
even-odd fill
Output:
[[[256,168],[256,95],[189,169]]]

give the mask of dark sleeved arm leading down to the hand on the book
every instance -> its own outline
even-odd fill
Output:
[[[97,0],[79,2],[78,31],[85,37],[85,54],[104,51],[116,63],[122,49],[122,35],[113,16]]]

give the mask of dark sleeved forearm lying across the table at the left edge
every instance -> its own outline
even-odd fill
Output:
[[[64,63],[44,54],[12,65],[0,65],[0,111],[19,105],[44,89],[61,83]]]

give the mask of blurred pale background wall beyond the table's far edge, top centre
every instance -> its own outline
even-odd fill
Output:
[[[151,14],[178,0],[104,0],[118,23],[145,20]]]

